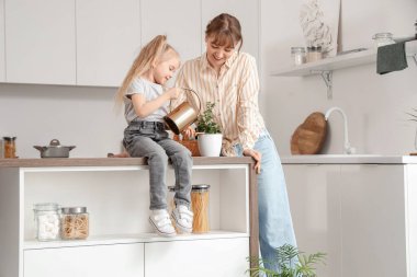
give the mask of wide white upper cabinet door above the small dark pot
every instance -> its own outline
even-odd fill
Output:
[[[76,83],[75,0],[5,2],[8,82]]]

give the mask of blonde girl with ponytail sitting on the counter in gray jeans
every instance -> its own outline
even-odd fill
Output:
[[[168,113],[169,101],[179,94],[179,89],[164,90],[164,84],[179,66],[178,53],[167,44],[166,36],[159,35],[140,50],[116,94],[116,103],[124,103],[128,124],[124,130],[124,147],[131,157],[148,158],[149,222],[164,236],[176,235],[166,200],[168,158],[176,173],[176,208],[171,216],[177,230],[190,233],[193,220],[190,211],[191,153],[168,137],[162,119]]]

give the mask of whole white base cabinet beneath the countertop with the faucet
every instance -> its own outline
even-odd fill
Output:
[[[318,275],[417,276],[416,164],[284,164],[298,247]]]

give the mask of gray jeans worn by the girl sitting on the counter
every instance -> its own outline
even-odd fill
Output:
[[[146,157],[149,164],[149,209],[167,209],[168,159],[176,174],[176,205],[190,208],[191,152],[168,137],[164,123],[133,120],[124,130],[123,145],[131,157]]]

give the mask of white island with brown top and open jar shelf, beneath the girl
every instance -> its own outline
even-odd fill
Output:
[[[247,276],[258,253],[253,176],[247,158],[195,158],[193,184],[211,185],[210,232],[162,238],[148,223],[144,159],[0,160],[0,276]],[[90,236],[36,241],[36,203],[86,206]]]

